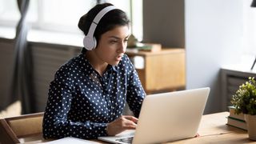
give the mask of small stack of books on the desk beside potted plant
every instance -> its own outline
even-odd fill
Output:
[[[227,125],[240,128],[242,130],[247,130],[246,121],[244,114],[235,114],[234,106],[228,106],[230,110],[230,115],[227,117]]]

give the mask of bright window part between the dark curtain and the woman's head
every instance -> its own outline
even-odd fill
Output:
[[[77,32],[79,18],[95,4],[95,0],[38,0],[35,26],[40,30]]]

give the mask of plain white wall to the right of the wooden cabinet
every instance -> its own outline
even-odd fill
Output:
[[[186,0],[186,89],[210,86],[205,113],[222,111],[219,70],[238,62],[241,0]]]

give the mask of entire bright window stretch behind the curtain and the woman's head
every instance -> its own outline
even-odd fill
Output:
[[[132,18],[133,34],[142,40],[142,0],[137,0],[136,6],[133,1],[106,0],[106,2],[113,3],[114,6],[124,10]],[[96,0],[32,0],[30,1],[27,20],[32,29],[35,30],[82,34],[78,29],[79,18],[96,3]],[[0,0],[0,26],[14,27],[19,18],[16,0]]]

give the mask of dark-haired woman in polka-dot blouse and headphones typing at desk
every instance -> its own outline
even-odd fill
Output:
[[[44,138],[97,138],[136,128],[146,94],[124,54],[129,25],[126,14],[109,3],[94,6],[80,18],[85,47],[50,82]],[[122,115],[126,102],[134,117]]]

